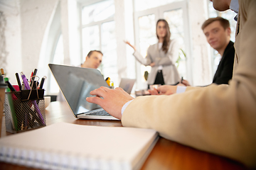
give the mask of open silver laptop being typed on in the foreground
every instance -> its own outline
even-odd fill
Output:
[[[86,101],[90,91],[109,87],[99,70],[59,64],[48,64],[48,67],[75,118],[119,120],[99,105]]]

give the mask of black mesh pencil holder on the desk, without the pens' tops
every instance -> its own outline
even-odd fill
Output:
[[[6,131],[24,132],[46,126],[44,89],[6,92]]]

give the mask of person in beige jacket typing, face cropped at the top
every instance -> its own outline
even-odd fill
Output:
[[[233,4],[231,0],[212,1],[219,11]],[[239,0],[234,74],[229,85],[188,87],[182,94],[135,99],[122,89],[101,87],[91,91],[97,96],[87,101],[102,106],[124,126],[151,128],[166,139],[256,167],[255,9],[255,0]]]

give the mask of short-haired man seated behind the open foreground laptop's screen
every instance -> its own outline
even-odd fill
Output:
[[[101,51],[92,50],[85,57],[85,62],[80,64],[80,66],[78,67],[97,69],[100,66],[100,63],[102,62],[102,56],[103,54]],[[65,98],[61,91],[59,91],[58,93],[57,101],[65,101]]]

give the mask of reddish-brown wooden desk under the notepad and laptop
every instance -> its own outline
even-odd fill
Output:
[[[73,116],[65,102],[51,102],[48,108],[46,108],[46,124],[65,122],[74,123],[78,125],[97,125],[97,126],[122,126],[118,120],[85,120],[77,119]],[[11,135],[11,133],[5,131],[5,123],[3,120],[3,127],[1,137]],[[0,169],[6,170],[27,170],[32,169],[24,166],[18,166],[14,164],[6,164],[0,162]],[[202,152],[191,147],[187,147],[170,140],[166,140],[163,137],[159,138],[154,149],[152,150],[146,162],[142,166],[142,169],[182,169],[182,170],[194,170],[194,169],[232,169],[240,170],[247,169],[242,164],[233,160],[220,157],[208,152]]]

